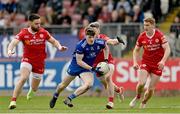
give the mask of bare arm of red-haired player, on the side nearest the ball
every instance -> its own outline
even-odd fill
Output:
[[[140,47],[136,45],[134,50],[133,50],[133,68],[135,70],[139,69],[139,65],[138,65],[138,62],[137,62],[139,51],[140,51]]]

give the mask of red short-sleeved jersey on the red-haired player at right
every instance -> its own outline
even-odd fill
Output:
[[[142,63],[146,63],[150,66],[157,66],[157,63],[161,61],[164,56],[162,44],[166,42],[167,40],[164,34],[158,29],[154,29],[152,37],[148,37],[146,32],[142,32],[136,42],[137,46],[143,46],[144,49]]]

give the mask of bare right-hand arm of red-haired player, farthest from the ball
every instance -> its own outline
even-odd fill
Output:
[[[159,69],[163,69],[164,68],[164,64],[165,64],[165,62],[166,62],[166,60],[167,60],[167,58],[169,57],[169,55],[170,55],[170,46],[169,46],[169,43],[168,42],[166,42],[166,43],[164,43],[163,45],[162,45],[162,47],[163,47],[163,49],[164,49],[164,56],[163,56],[163,58],[161,59],[161,61],[158,63],[158,68]]]

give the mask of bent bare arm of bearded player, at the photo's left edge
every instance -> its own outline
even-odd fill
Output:
[[[14,47],[16,47],[16,45],[19,43],[20,41],[17,39],[13,39],[10,44],[8,45],[8,56],[12,56],[14,54],[13,49]]]

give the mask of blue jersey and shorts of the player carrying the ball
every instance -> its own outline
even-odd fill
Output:
[[[88,65],[92,66],[97,54],[105,48],[105,40],[96,38],[94,44],[89,45],[86,39],[81,40],[77,45],[73,54],[71,64],[68,68],[68,73],[70,75],[79,75],[81,72],[89,71],[77,64],[76,53],[83,54],[83,61]]]

